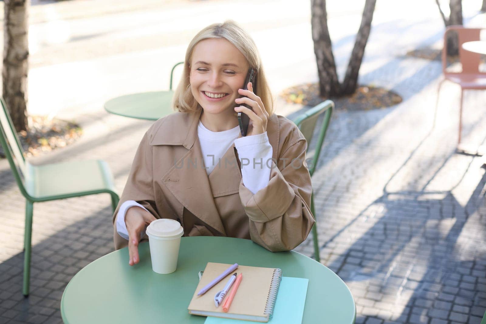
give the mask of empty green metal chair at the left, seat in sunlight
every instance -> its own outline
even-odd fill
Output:
[[[119,197],[113,184],[111,171],[102,160],[32,165],[25,160],[23,149],[15,132],[5,102],[0,98],[0,144],[14,173],[17,186],[26,199],[24,236],[24,279],[22,293],[29,295],[32,214],[34,203],[109,193],[113,211]]]

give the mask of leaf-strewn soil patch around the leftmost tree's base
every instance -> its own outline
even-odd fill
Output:
[[[29,118],[32,119],[29,131],[18,133],[26,157],[65,147],[74,143],[83,134],[81,127],[73,122],[55,118],[47,119],[43,116]],[[0,147],[0,157],[5,157],[2,147]]]

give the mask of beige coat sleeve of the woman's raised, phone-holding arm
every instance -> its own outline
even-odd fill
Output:
[[[306,150],[304,138],[290,145],[278,161],[272,161],[267,187],[255,194],[240,183],[250,237],[269,251],[294,249],[307,238],[314,224],[309,208],[312,184],[305,166]]]

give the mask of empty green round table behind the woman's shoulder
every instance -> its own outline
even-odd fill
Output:
[[[157,120],[174,112],[171,106],[174,91],[134,93],[111,99],[104,109],[115,115]]]

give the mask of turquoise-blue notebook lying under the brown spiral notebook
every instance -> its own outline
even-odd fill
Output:
[[[309,279],[282,277],[278,288],[277,300],[275,302],[272,318],[268,323],[275,324],[297,324],[302,323],[304,315],[305,298]],[[238,292],[236,292],[238,293]],[[221,317],[206,318],[204,324],[248,324],[258,323],[252,321],[233,320]]]

